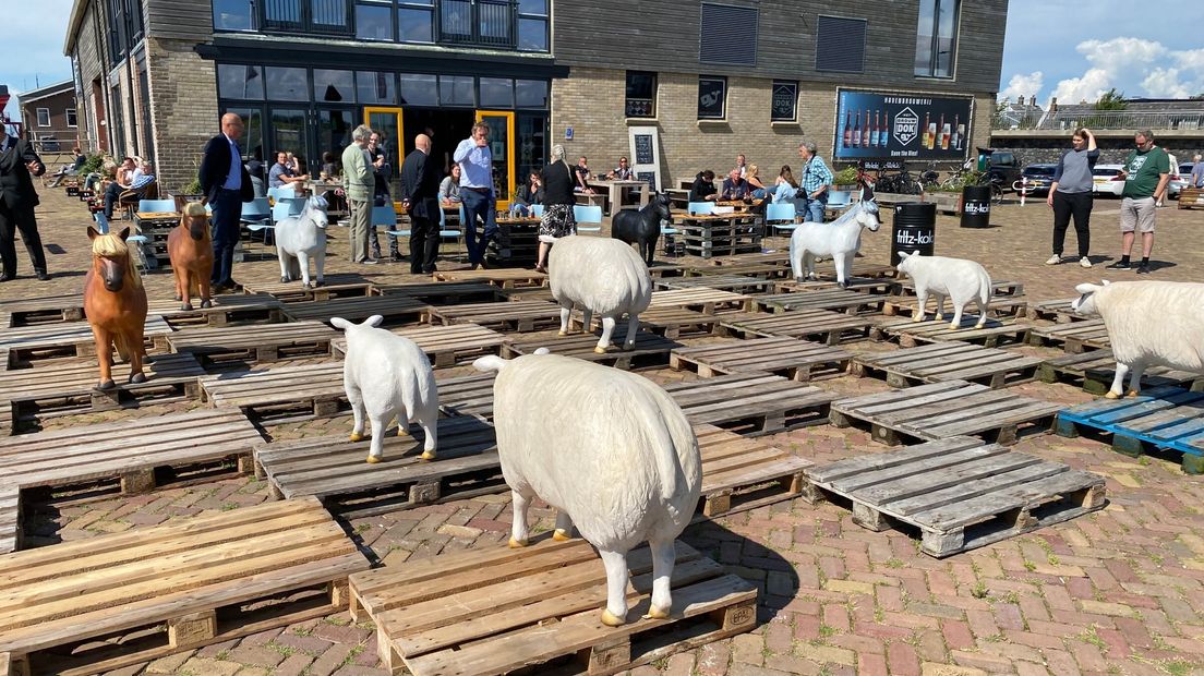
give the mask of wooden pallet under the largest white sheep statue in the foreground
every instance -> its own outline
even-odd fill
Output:
[[[606,571],[582,539],[468,550],[356,574],[352,613],[377,625],[384,668],[414,676],[524,666],[615,674],[751,630],[756,588],[680,541],[675,548],[669,619],[641,619],[651,592],[651,555],[641,547],[627,555],[630,622],[598,622]],[[554,664],[560,658],[583,664]]]

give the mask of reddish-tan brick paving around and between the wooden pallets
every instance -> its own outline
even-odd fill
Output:
[[[51,247],[48,283],[22,278],[0,285],[0,297],[77,290],[87,260],[87,215],[78,202],[53,192],[41,210]],[[938,251],[975,257],[997,278],[1026,283],[1029,297],[1073,295],[1073,285],[1103,271],[1046,267],[1049,212],[1044,206],[998,209],[1001,227],[960,230],[943,217]],[[1199,279],[1204,262],[1204,214],[1161,210],[1156,254],[1174,261],[1155,279]],[[887,219],[889,220],[889,219]],[[1100,202],[1093,227],[1096,250],[1116,245],[1115,203]],[[887,224],[889,226],[889,224]],[[346,231],[336,230],[331,272],[347,272]],[[868,257],[884,257],[887,230],[864,238]],[[61,251],[61,253],[59,253]],[[24,255],[24,254],[22,254]],[[1156,255],[1156,259],[1159,256]],[[1097,257],[1097,261],[1102,260]],[[447,265],[447,263],[441,263]],[[23,271],[28,261],[22,260]],[[388,265],[373,278],[408,275]],[[275,261],[244,263],[240,279],[276,275]],[[1111,274],[1126,279],[1128,274]],[[149,277],[150,293],[167,293],[170,279]],[[855,349],[890,349],[857,344]],[[1033,354],[1055,355],[1044,348]],[[650,372],[657,381],[695,378]],[[818,383],[840,392],[885,390],[878,380],[851,376]],[[1026,384],[1015,391],[1063,403],[1090,397],[1067,385]],[[161,404],[48,420],[43,427],[124,416],[161,415],[195,407]],[[347,432],[349,419],[265,427],[273,439]],[[767,438],[816,462],[884,447],[862,432],[828,426]],[[1198,500],[1204,486],[1184,475],[1174,458],[1132,459],[1106,446],[1052,435],[1027,437],[1016,450],[1066,462],[1106,476],[1109,505],[1087,517],[1045,528],[966,555],[937,561],[919,553],[901,533],[872,533],[848,511],[801,500],[719,518],[689,528],[684,540],[755,582],[761,589],[759,628],[748,635],[673,656],[635,671],[673,675],[721,674],[1204,674],[1204,524]],[[26,528],[31,544],[89,538],[197,514],[238,509],[268,499],[266,486],[237,478],[134,498],[87,504],[40,505]],[[352,536],[385,564],[466,547],[498,546],[507,536],[508,497],[483,497],[354,520]],[[538,511],[537,528],[551,515]],[[208,646],[125,669],[119,674],[260,675],[383,674],[374,633],[346,615]]]

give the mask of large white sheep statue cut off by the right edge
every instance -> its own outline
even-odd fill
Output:
[[[1186,281],[1117,281],[1080,284],[1070,304],[1075,312],[1103,318],[1108,327],[1116,378],[1105,397],[1141,391],[1141,374],[1151,366],[1204,373],[1204,284]]]

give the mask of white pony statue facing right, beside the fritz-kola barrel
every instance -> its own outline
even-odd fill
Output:
[[[790,236],[790,268],[796,281],[816,279],[815,256],[832,256],[836,280],[842,287],[852,279],[852,259],[861,248],[861,229],[878,232],[878,203],[868,185],[861,189],[861,201],[833,223],[803,223]]]

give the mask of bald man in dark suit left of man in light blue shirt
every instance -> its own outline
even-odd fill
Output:
[[[414,150],[401,165],[401,203],[409,210],[409,272],[435,272],[439,254],[439,170],[430,160],[431,137],[414,137]]]

